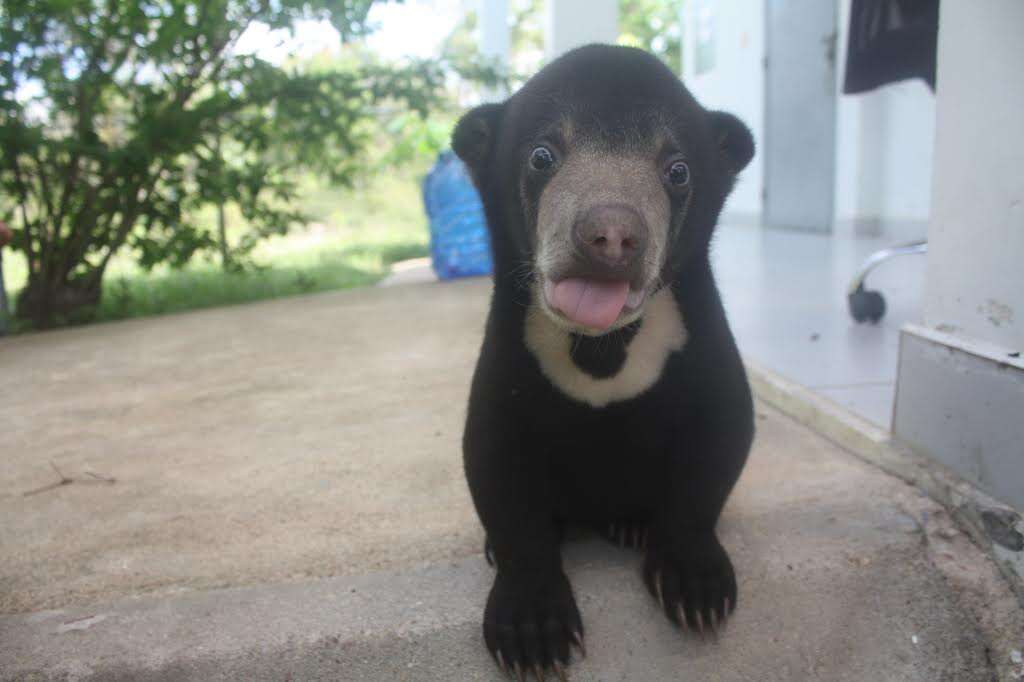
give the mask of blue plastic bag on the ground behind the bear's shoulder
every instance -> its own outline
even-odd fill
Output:
[[[442,152],[423,180],[430,220],[430,258],[441,280],[489,274],[490,238],[483,205],[466,166]]]

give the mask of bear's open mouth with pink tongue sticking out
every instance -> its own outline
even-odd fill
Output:
[[[546,279],[543,291],[543,307],[549,314],[597,332],[634,318],[646,298],[645,290],[631,289],[626,280]]]

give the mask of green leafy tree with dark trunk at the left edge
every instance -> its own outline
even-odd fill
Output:
[[[300,71],[236,50],[255,23],[329,19],[366,35],[373,0],[5,0],[0,5],[0,219],[29,263],[16,313],[87,314],[111,258],[182,265],[221,247],[203,206],[250,229],[225,259],[303,216],[293,171],[346,183],[384,103],[425,113],[437,61],[365,55]]]

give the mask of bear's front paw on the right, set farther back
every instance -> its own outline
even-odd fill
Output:
[[[714,532],[695,536],[678,549],[653,546],[644,561],[644,583],[678,626],[716,634],[736,607],[736,574]]]

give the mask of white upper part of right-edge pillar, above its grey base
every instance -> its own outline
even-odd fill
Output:
[[[944,2],[925,322],[1024,350],[1024,2]]]

